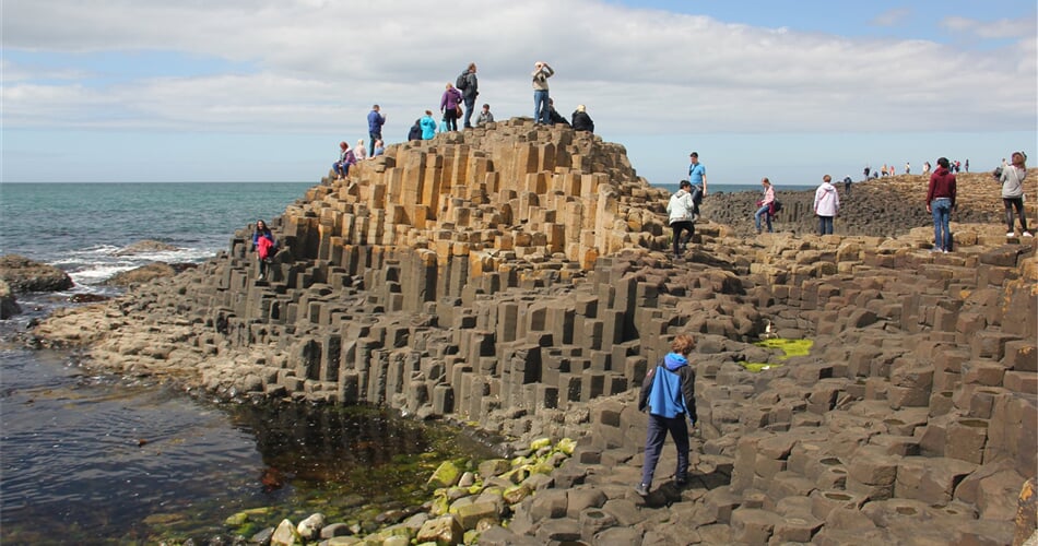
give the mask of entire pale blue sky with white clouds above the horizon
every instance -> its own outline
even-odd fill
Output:
[[[4,0],[0,182],[318,182],[379,104],[447,82],[587,105],[651,183],[814,185],[940,156],[1038,165],[1034,0]]]

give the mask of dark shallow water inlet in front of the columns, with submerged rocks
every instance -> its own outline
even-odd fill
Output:
[[[12,343],[0,384],[4,545],[204,539],[256,507],[271,512],[249,532],[317,511],[344,521],[370,503],[421,503],[444,459],[493,456],[452,428],[379,410],[217,403]]]

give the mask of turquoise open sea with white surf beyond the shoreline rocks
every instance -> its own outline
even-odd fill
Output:
[[[152,261],[199,262],[227,248],[235,229],[271,218],[304,195],[284,183],[3,183],[0,254],[68,272],[81,290]],[[142,240],[174,252],[115,257]]]

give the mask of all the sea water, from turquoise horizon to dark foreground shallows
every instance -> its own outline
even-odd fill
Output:
[[[211,259],[236,229],[282,214],[311,186],[0,185],[0,254],[74,282],[19,295],[23,312],[0,321],[0,544],[208,544],[231,532],[229,515],[266,510],[255,529],[234,530],[250,536],[281,518],[347,518],[356,499],[410,499],[430,454],[495,453],[474,434],[377,408],[225,403],[24,343],[73,296],[119,296],[105,281],[148,263]],[[144,240],[176,250],[119,254]]]

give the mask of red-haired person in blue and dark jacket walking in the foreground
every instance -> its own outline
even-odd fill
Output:
[[[696,371],[688,355],[696,343],[691,335],[680,334],[671,342],[671,353],[656,368],[646,373],[638,396],[638,411],[649,408],[649,429],[645,439],[645,464],[641,482],[635,491],[645,497],[652,487],[652,475],[660,462],[663,442],[670,432],[677,448],[677,467],[674,484],[688,483],[688,423],[696,425]]]

